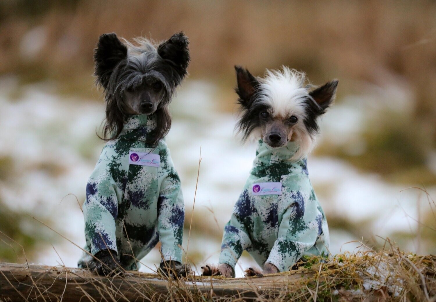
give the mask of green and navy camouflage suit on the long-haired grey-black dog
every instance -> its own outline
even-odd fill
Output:
[[[163,259],[182,261],[184,202],[167,144],[146,141],[153,115],[130,116],[117,139],[106,143],[86,186],[85,250],[111,249],[123,268],[137,269],[161,242]],[[132,255],[133,253],[133,255]],[[91,259],[84,253],[79,267]],[[135,260],[136,259],[136,260]]]

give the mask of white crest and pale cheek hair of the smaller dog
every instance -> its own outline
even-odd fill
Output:
[[[298,122],[293,127],[293,137],[300,145],[290,161],[305,158],[312,151],[315,140],[304,125],[306,119],[307,99],[311,98],[305,86],[304,72],[282,66],[279,70],[266,70],[265,77],[259,78],[260,102],[265,102],[272,108],[272,116],[295,115]]]

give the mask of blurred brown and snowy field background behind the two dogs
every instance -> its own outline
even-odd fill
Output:
[[[285,64],[313,84],[339,78],[309,173],[332,253],[360,240],[436,253],[436,3],[30,1],[0,3],[0,261],[75,266],[85,243],[79,204],[102,149],[99,34],[190,37],[190,76],[167,136],[186,204],[184,248],[218,260],[222,228],[255,145],[234,136],[234,64],[255,75]],[[201,146],[201,166],[192,212]],[[77,197],[77,200],[76,200]],[[57,253],[56,253],[57,251]],[[160,261],[153,250],[141,270]],[[244,254],[243,268],[254,261]],[[237,275],[242,275],[238,268]]]

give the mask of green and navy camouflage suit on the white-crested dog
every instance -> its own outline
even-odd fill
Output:
[[[247,250],[261,267],[269,262],[287,271],[303,255],[327,254],[327,221],[307,160],[288,161],[297,150],[293,142],[272,148],[259,141],[250,176],[224,228],[219,263],[235,268]]]

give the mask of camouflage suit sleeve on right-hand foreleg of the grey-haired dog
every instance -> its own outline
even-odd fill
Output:
[[[165,261],[182,262],[181,245],[185,205],[180,178],[174,169],[169,150],[160,153],[161,163],[166,166],[167,174],[162,181],[158,201],[158,232],[161,242],[160,251]]]

